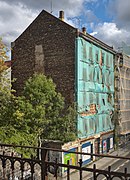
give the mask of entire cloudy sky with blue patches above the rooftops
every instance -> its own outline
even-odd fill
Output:
[[[0,36],[9,45],[45,9],[110,46],[130,45],[130,0],[0,0]]]

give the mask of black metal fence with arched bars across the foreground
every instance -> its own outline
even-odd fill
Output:
[[[72,170],[73,176],[75,176],[75,180],[115,180],[116,178],[121,180],[130,180],[130,172],[127,172],[127,168],[124,169],[124,172],[114,172],[111,170],[111,166],[109,166],[107,170],[98,169],[96,168],[95,164],[92,168],[88,168],[87,166],[84,167],[82,159],[79,159],[79,163],[77,165],[71,165],[69,161],[67,161],[67,164],[64,164],[63,162],[59,162],[57,158],[55,158],[53,161],[50,161],[47,156],[49,151],[58,153],[68,153],[69,151],[51,148],[14,146],[7,144],[0,144],[0,146],[0,180],[71,180]],[[40,150],[41,160],[34,155],[31,158],[24,158],[22,155],[15,152],[15,148],[21,148],[25,150],[31,149],[34,152],[38,152],[38,150]],[[107,157],[130,161],[130,158],[128,157],[117,157],[103,154],[99,155],[72,151],[71,153],[74,153],[80,157],[82,157],[82,155],[90,155],[91,157]],[[62,169],[65,169],[66,171],[62,171]],[[83,177],[84,172],[88,173],[85,178]]]

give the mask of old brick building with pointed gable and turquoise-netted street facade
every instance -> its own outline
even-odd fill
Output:
[[[66,103],[76,101],[78,137],[63,148],[106,153],[113,149],[114,61],[112,47],[42,11],[12,43],[13,89],[20,94],[34,72],[52,77]],[[85,163],[91,158],[84,159]]]

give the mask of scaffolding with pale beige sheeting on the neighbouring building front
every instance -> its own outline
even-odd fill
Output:
[[[130,133],[130,56],[122,53],[117,59],[119,72],[118,100],[120,112],[120,134]]]

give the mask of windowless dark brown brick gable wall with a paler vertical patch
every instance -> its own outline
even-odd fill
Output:
[[[12,78],[17,78],[13,88],[17,94],[25,80],[38,71],[52,77],[67,102],[73,101],[75,36],[76,29],[42,11],[12,47]]]

